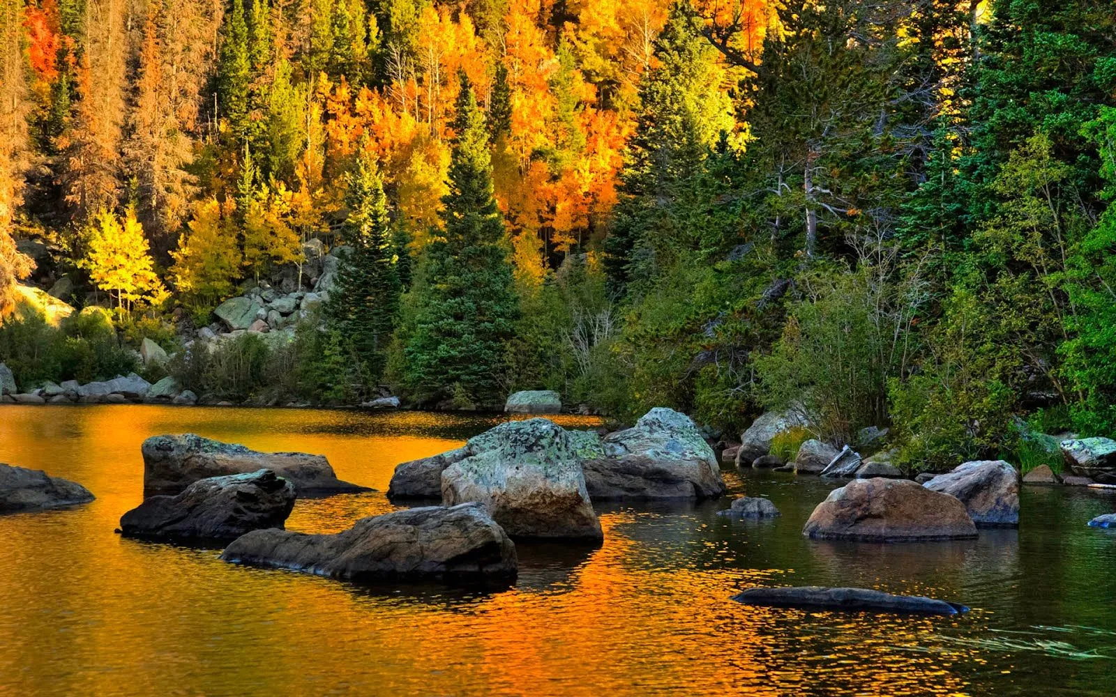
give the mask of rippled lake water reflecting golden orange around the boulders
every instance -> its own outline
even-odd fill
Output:
[[[368,588],[125,540],[140,444],[198,433],[328,456],[386,491],[394,466],[499,416],[163,406],[0,407],[0,462],[84,484],[73,510],[0,516],[0,695],[1110,695],[1116,496],[1027,487],[1018,531],[964,542],[801,536],[833,488],[724,468],[770,522],[702,504],[597,505],[599,548],[519,544],[511,588]],[[593,419],[558,417],[566,426]],[[287,527],[336,532],[383,493],[301,500]],[[806,612],[750,585],[859,585],[962,602],[955,617]]]

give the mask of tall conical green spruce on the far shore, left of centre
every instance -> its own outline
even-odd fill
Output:
[[[468,76],[453,120],[444,230],[433,233],[405,349],[408,383],[425,398],[492,404],[501,398],[506,347],[518,314],[503,221],[492,196],[484,116]]]

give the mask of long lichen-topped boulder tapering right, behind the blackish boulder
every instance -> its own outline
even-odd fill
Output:
[[[194,434],[152,436],[143,443],[144,495],[177,494],[198,480],[270,469],[299,496],[368,491],[341,482],[321,455],[260,453]]]

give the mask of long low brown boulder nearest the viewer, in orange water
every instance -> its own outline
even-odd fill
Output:
[[[353,581],[511,580],[518,570],[516,545],[477,503],[366,517],[333,535],[257,530],[221,559]]]

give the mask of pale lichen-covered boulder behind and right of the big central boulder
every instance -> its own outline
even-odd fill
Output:
[[[724,493],[713,448],[684,414],[656,407],[636,425],[605,436],[602,451],[583,448],[589,496],[709,498]]]

